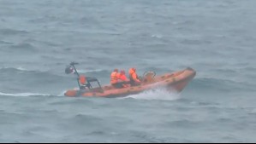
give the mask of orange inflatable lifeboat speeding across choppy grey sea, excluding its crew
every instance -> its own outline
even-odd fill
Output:
[[[181,92],[182,89],[194,78],[196,72],[188,67],[184,70],[177,72],[167,72],[163,75],[156,76],[155,72],[145,72],[141,78],[141,84],[137,86],[129,86],[126,88],[116,89],[111,85],[101,86],[97,78],[85,78],[76,71],[74,65],[77,63],[72,62],[69,69],[73,69],[77,74],[79,89],[68,89],[64,95],[75,96],[98,96],[98,97],[122,97],[127,95],[139,94],[148,89],[154,89],[158,87],[165,87],[170,90],[176,90]],[[69,70],[68,70],[69,71]],[[66,68],[66,73],[67,68]],[[86,84],[85,84],[86,80]],[[83,82],[83,84],[80,84]],[[92,88],[92,83],[96,83],[97,86]],[[95,85],[95,84],[93,84]]]

